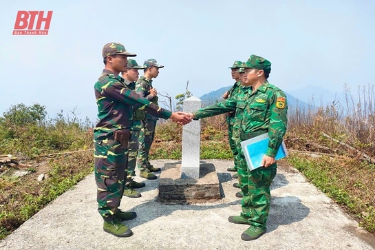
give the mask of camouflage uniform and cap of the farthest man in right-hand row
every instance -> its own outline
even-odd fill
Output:
[[[241,67],[242,61],[235,61],[233,63],[232,67],[229,67],[230,69],[239,69]],[[231,87],[231,89],[228,90],[228,98],[236,98],[237,94],[241,90],[241,83],[239,81],[236,81],[235,84]],[[235,158],[235,171],[237,171],[237,147],[235,140],[233,140],[233,125],[235,124],[235,112],[228,112],[226,116],[226,123],[228,124],[228,140],[229,140],[229,146],[232,149],[233,157]]]

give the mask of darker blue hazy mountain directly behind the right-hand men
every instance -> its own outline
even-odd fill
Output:
[[[209,93],[206,93],[202,96],[200,96],[200,99],[202,100],[202,106],[211,105],[215,102],[220,102],[223,100],[222,95],[231,88],[232,86],[228,87],[221,87],[219,90],[214,90]],[[307,108],[309,107],[308,103],[305,103],[303,101],[300,101],[299,99],[295,98],[289,93],[286,93],[286,97],[288,100],[288,107],[299,107],[299,108]]]

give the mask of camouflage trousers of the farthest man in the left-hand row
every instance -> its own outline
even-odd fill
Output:
[[[137,167],[144,171],[150,166],[149,152],[155,136],[157,120],[142,120],[142,129],[139,133],[139,149],[137,155]]]

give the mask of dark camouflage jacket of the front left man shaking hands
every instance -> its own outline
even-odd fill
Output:
[[[94,85],[94,92],[99,118],[94,129],[94,140],[105,139],[117,129],[131,128],[133,107],[164,119],[172,114],[129,90],[125,87],[124,79],[109,70],[103,70]]]

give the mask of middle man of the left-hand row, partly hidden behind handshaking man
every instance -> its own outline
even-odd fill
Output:
[[[131,89],[135,90],[136,81],[138,80],[139,72],[138,70],[143,70],[144,66],[138,65],[136,60],[129,59],[127,61],[127,70],[122,73],[122,78],[124,79],[125,85]],[[124,196],[130,198],[139,198],[142,195],[140,192],[134,190],[134,188],[140,188],[146,186],[144,183],[138,183],[133,180],[133,176],[136,176],[136,162],[138,154],[138,137],[142,124],[140,121],[144,117],[139,117],[138,114],[144,114],[143,111],[138,109],[133,109],[133,124],[130,129],[130,140],[128,145],[128,165],[127,165],[127,183],[124,189]]]

